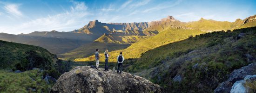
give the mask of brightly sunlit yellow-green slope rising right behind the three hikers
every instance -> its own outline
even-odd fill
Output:
[[[168,43],[173,43],[176,41],[180,41],[183,39],[188,38],[189,36],[195,36],[204,33],[203,31],[198,30],[184,30],[184,29],[174,29],[174,28],[168,28],[165,31],[161,31],[159,34],[150,37],[146,40],[143,40],[138,43],[133,43],[131,46],[129,46],[127,49],[124,50],[115,50],[111,51],[109,54],[111,55],[109,57],[109,62],[116,62],[116,56],[118,56],[119,52],[123,52],[123,55],[125,59],[128,58],[139,58],[141,57],[141,54],[154,49],[156,47],[159,47],[161,45],[165,45]],[[100,54],[103,56],[103,54]],[[94,61],[94,56],[90,56],[87,58],[78,58],[74,61],[80,62],[80,61]],[[100,61],[104,61],[104,57],[100,58]]]

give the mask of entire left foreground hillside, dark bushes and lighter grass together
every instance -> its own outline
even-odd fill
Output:
[[[0,40],[0,93],[48,93],[70,63],[38,46]]]

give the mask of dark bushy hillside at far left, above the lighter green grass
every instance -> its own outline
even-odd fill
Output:
[[[41,47],[0,40],[0,69],[14,69],[18,63],[28,63],[28,57],[36,57],[40,63],[45,62],[45,64],[36,62],[39,63],[37,65],[34,64],[37,68],[47,68],[47,65],[53,65],[53,62],[57,60],[54,54]],[[24,65],[24,68],[27,67]]]

